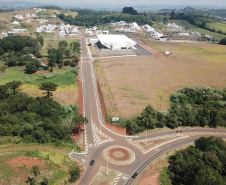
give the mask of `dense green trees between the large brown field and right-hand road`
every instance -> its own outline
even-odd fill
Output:
[[[186,87],[170,97],[171,108],[157,112],[148,105],[142,113],[120,124],[132,134],[145,129],[182,126],[226,127],[226,89]]]

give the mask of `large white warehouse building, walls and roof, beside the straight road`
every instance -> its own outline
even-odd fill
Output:
[[[135,49],[134,46],[137,44],[125,35],[98,34],[97,38],[101,45],[111,50]]]

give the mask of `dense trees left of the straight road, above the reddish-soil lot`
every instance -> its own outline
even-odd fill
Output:
[[[63,107],[54,101],[54,83],[39,86],[45,95],[41,98],[20,92],[21,85],[19,81],[0,85],[0,136],[16,137],[18,143],[73,144],[73,127],[87,122],[78,116],[78,105]]]

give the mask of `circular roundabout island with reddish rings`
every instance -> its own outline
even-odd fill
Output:
[[[115,165],[127,165],[135,160],[134,152],[124,146],[110,146],[102,154],[106,161]]]

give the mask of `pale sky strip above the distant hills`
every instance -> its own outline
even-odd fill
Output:
[[[13,0],[0,0],[13,1]],[[226,0],[21,0],[34,1],[41,3],[56,4],[114,4],[114,5],[145,5],[145,4],[161,4],[161,5],[217,5],[226,6]]]

